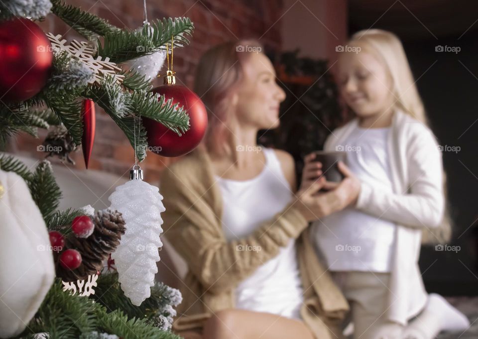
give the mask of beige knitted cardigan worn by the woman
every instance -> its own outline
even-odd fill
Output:
[[[227,242],[221,226],[222,196],[213,173],[208,154],[196,149],[167,168],[161,178],[164,235],[189,268],[173,330],[200,331],[213,313],[234,308],[239,282],[277,255],[290,238],[297,238],[304,287],[301,317],[316,338],[341,338],[340,326],[349,306],[315,255],[306,219],[288,206],[251,235]],[[238,251],[239,243],[262,250]]]

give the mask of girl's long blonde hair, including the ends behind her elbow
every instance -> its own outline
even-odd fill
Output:
[[[422,99],[418,94],[407,56],[400,39],[393,33],[381,29],[361,30],[349,41],[351,45],[360,44],[380,58],[392,78],[392,93],[395,96],[395,106],[412,115],[423,124],[428,125]],[[443,173],[443,191],[447,196],[446,173]],[[425,228],[422,232],[422,243],[445,243],[452,235],[452,220],[450,206],[446,203],[445,214],[440,226]]]

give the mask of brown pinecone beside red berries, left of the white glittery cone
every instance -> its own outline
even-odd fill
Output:
[[[89,275],[96,274],[103,268],[103,261],[110,253],[116,250],[119,239],[124,234],[124,220],[116,210],[103,210],[93,218],[95,230],[87,238],[79,238],[70,234],[67,238],[67,248],[73,248],[80,252],[82,262],[80,267],[74,270],[66,270],[58,265],[57,275],[64,281],[76,281],[87,279]]]

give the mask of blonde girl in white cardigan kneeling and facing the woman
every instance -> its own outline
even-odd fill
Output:
[[[443,165],[402,44],[371,29],[348,46],[338,81],[356,118],[333,131],[325,150],[348,151],[339,168],[359,189],[347,209],[314,223],[316,248],[351,304],[354,338],[431,339],[466,329],[463,314],[426,293],[418,267],[422,230],[444,220]],[[305,187],[320,170],[312,159]]]

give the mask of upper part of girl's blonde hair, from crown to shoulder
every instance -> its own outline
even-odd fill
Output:
[[[391,32],[367,29],[355,33],[349,43],[364,45],[380,58],[392,78],[395,106],[427,124],[425,109],[400,39]]]

